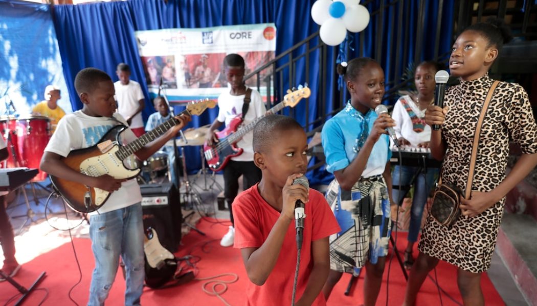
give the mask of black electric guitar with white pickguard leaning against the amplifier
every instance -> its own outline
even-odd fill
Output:
[[[143,252],[146,259],[146,285],[162,287],[177,271],[177,259],[158,241],[157,232],[149,227],[144,236]]]

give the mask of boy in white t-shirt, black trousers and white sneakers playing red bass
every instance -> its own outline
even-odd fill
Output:
[[[216,145],[215,143],[218,139],[214,133],[224,123],[228,126],[235,117],[242,116],[244,118],[243,125],[246,125],[266,113],[266,108],[259,92],[255,89],[247,88],[244,85],[244,66],[244,58],[238,54],[228,54],[224,58],[224,73],[226,74],[230,89],[218,97],[219,113],[211,128],[209,128],[210,132],[207,133],[206,139],[208,145]],[[243,116],[243,104],[247,89],[251,89],[250,103],[246,109],[246,114]],[[235,239],[231,203],[233,203],[238,193],[238,178],[241,175],[243,176],[244,190],[261,181],[261,170],[253,163],[252,141],[252,131],[246,133],[241,140],[237,141],[237,147],[242,148],[244,152],[241,155],[231,158],[223,169],[224,198],[226,198],[226,202],[228,203],[231,226],[229,227],[228,233],[220,241],[222,247],[231,247]]]

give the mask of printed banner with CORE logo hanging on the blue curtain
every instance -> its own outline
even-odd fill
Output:
[[[244,57],[245,75],[274,59],[274,24],[221,26],[211,28],[161,29],[135,32],[149,91],[158,93],[162,84],[170,101],[217,98],[227,89],[223,70],[227,54]],[[272,68],[260,73],[260,93],[266,97],[265,77]],[[246,81],[257,86],[257,77]],[[272,84],[271,84],[272,87]]]

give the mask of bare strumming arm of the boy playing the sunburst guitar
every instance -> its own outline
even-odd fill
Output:
[[[88,176],[78,171],[69,168],[63,161],[62,156],[53,152],[43,153],[41,164],[39,165],[41,170],[46,173],[63,178],[64,180],[81,183],[90,187],[112,192],[118,190],[121,187],[121,183],[126,180],[118,180],[110,175],[102,175],[98,177]]]

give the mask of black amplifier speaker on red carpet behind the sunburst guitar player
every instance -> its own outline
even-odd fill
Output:
[[[154,228],[163,247],[175,252],[183,223],[179,191],[173,183],[140,185],[140,190],[144,229]]]

